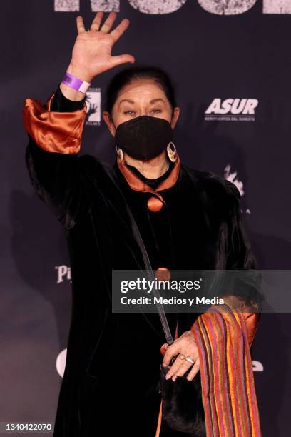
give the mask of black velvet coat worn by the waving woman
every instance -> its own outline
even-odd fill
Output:
[[[118,429],[121,436],[154,437],[165,343],[160,320],[157,314],[111,312],[111,270],[145,268],[127,209],[154,269],[254,268],[239,191],[181,164],[176,183],[160,191],[165,205],[152,212],[152,194],[132,189],[117,164],[110,169],[95,156],[52,153],[26,131],[31,182],[63,225],[71,262],[71,327],[53,436],[107,436]],[[173,336],[177,321],[180,335],[198,315],[168,314]],[[161,436],[182,434],[163,424]]]

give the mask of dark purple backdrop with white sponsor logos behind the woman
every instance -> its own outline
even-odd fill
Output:
[[[86,29],[96,11],[117,11],[116,24],[127,17],[131,24],[113,54],[132,54],[136,64],[160,66],[172,77],[182,161],[233,181],[260,268],[290,269],[291,1],[14,0],[0,8],[0,421],[53,422],[71,271],[63,229],[29,181],[24,99],[44,103],[58,86],[78,14]],[[91,84],[80,152],[111,163],[103,96],[120,69]],[[263,314],[252,345],[264,437],[290,435],[290,321],[289,313]]]

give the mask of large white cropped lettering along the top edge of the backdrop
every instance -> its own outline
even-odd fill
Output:
[[[119,0],[81,0],[91,4],[92,12],[119,12]],[[187,0],[128,0],[128,3],[143,14],[170,14],[178,11]],[[239,15],[249,11],[257,0],[197,0],[202,9],[215,15]],[[263,0],[263,14],[291,14],[290,0]],[[56,12],[80,11],[80,0],[55,0]]]

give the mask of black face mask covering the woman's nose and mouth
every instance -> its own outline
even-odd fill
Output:
[[[165,119],[139,116],[124,121],[116,128],[116,146],[141,161],[162,153],[173,139],[173,129]]]

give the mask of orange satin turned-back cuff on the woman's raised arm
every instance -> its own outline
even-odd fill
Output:
[[[51,111],[54,93],[44,106],[39,100],[25,99],[23,123],[41,149],[61,154],[77,154],[81,147],[83,124],[86,119],[86,103],[82,109],[72,112]]]

